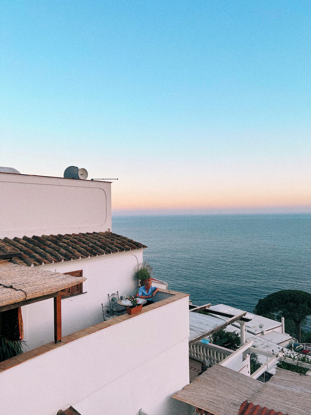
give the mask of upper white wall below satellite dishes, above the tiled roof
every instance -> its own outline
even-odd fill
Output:
[[[111,183],[0,173],[0,238],[111,230]]]

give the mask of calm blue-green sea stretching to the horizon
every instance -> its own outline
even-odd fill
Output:
[[[311,292],[309,214],[119,216],[112,230],[147,245],[155,278],[197,305],[253,311],[275,291]]]

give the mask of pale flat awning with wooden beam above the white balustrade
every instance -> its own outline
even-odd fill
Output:
[[[234,317],[226,318],[222,320],[212,315],[200,314],[197,312],[189,312],[189,325],[190,325],[190,336],[189,344],[198,342],[199,340],[207,337],[218,330],[227,327],[229,324],[241,319],[246,314],[246,311],[235,315]]]

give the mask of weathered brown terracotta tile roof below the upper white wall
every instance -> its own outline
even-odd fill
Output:
[[[13,263],[34,266],[147,247],[112,232],[87,232],[3,238],[0,239],[0,249],[2,248],[20,252],[19,258],[12,259]]]

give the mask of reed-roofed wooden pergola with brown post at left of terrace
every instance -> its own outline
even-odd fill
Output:
[[[0,262],[0,312],[54,298],[54,340],[61,341],[61,294],[86,278]]]

